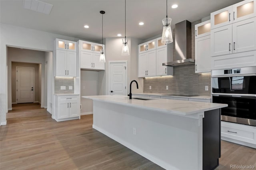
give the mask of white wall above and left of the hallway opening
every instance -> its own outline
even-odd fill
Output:
[[[40,51],[53,51],[54,40],[56,38],[77,41],[78,38],[12,26],[8,24],[0,24],[0,80],[6,80],[7,66],[7,50],[6,46],[22,47],[25,49],[35,49]],[[44,66],[42,67],[44,69]],[[10,70],[8,68],[8,70]],[[1,124],[6,123],[7,113],[7,85],[5,81],[0,82],[0,115]]]

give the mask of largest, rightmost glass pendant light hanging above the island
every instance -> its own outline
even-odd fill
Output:
[[[162,20],[163,22],[163,34],[162,34],[162,43],[172,43],[172,28],[171,22],[172,18],[167,16],[167,0],[166,0],[166,18]]]

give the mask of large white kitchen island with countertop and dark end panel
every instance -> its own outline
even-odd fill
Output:
[[[159,166],[168,170],[218,166],[220,108],[226,104],[117,95],[83,98],[93,100],[94,129]]]

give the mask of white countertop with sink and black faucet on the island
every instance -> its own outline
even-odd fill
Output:
[[[142,109],[161,111],[176,115],[191,115],[199,112],[210,111],[227,107],[226,104],[204,103],[195,101],[182,101],[170,99],[153,99],[139,100],[129,99],[128,96],[122,95],[102,95],[102,96],[82,96],[82,98],[92,99],[95,101],[104,101],[120,105],[132,106]],[[139,97],[138,97],[139,98]],[[143,98],[143,97],[140,97]],[[152,98],[149,98],[152,99]]]

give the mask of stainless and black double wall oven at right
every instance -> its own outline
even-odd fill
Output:
[[[256,67],[212,70],[212,102],[228,104],[222,121],[256,126]]]

